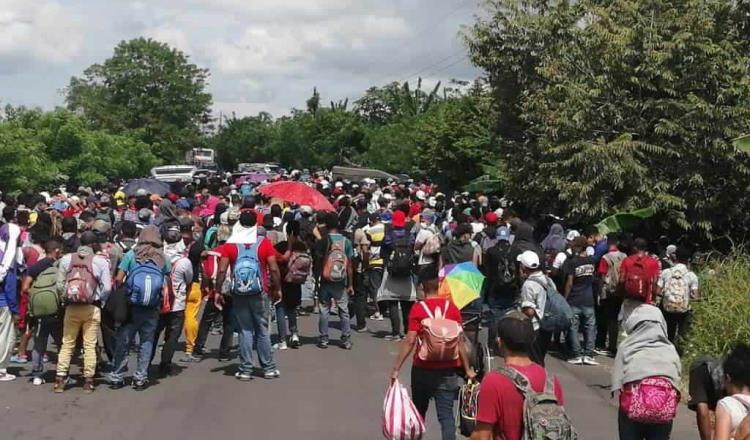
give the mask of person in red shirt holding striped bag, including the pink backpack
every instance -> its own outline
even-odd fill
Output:
[[[414,350],[411,370],[412,400],[424,418],[435,400],[435,410],[443,440],[455,440],[456,424],[453,402],[458,394],[458,371],[468,379],[476,374],[469,364],[461,327],[461,311],[450,299],[438,295],[437,268],[425,273],[422,287],[425,299],[411,308],[406,339],[396,357],[391,380]]]

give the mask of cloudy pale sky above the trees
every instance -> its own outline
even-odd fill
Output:
[[[214,113],[275,116],[371,85],[479,72],[461,25],[476,0],[0,0],[0,104],[63,104],[71,76],[123,39],[167,42],[211,71]]]

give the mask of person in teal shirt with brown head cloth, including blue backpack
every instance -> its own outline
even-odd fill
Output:
[[[130,319],[115,334],[115,358],[109,375],[112,389],[125,386],[123,373],[128,366],[130,344],[136,333],[140,350],[133,373],[133,388],[142,391],[148,386],[148,366],[159,325],[165,279],[170,272],[171,265],[164,256],[159,228],[146,226],[141,231],[138,244],[122,258],[117,272],[117,285],[125,283]]]

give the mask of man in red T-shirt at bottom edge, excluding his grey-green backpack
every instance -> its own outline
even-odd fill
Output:
[[[529,359],[533,341],[534,327],[523,313],[510,312],[497,323],[497,345],[505,358],[505,366],[517,370],[526,377],[534,391],[541,393],[548,373]],[[562,388],[557,378],[553,383],[557,401],[563,405]],[[523,406],[524,397],[509,377],[497,371],[488,373],[479,389],[477,425],[471,440],[520,440]]]

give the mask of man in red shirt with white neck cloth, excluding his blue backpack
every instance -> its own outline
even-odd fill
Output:
[[[241,381],[252,379],[253,339],[257,336],[256,350],[264,377],[276,379],[281,373],[273,359],[271,335],[268,330],[269,301],[272,299],[276,302],[281,299],[281,272],[276,262],[276,250],[269,240],[258,236],[255,212],[243,212],[240,214],[239,222],[242,227],[249,230],[248,234],[243,234],[243,237],[249,237],[248,243],[225,243],[216,248],[221,254],[216,285],[224,284],[227,270],[230,265],[232,268],[235,267],[240,253],[249,251],[260,266],[262,292],[239,292],[236,286],[232,289],[232,312],[240,330],[240,368],[235,377]],[[216,293],[214,302],[221,309],[224,297],[220,292]]]

